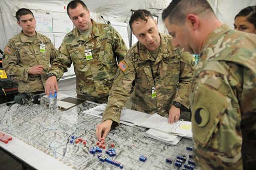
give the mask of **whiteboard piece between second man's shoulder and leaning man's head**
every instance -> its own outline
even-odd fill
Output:
[[[130,43],[129,43],[129,35],[127,31],[127,23],[125,22],[111,22],[111,26],[113,26],[116,31],[122,36],[123,41],[126,44],[126,47],[129,49]]]

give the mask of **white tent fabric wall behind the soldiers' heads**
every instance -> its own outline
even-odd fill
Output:
[[[161,13],[172,0],[91,0],[84,1],[91,11],[92,18],[103,22],[100,15],[106,20],[117,22],[129,22],[132,14],[131,10],[147,9],[159,16],[159,30],[166,32]],[[217,17],[230,27],[233,27],[234,16],[243,8],[256,5],[255,0],[208,0],[216,12]],[[53,15],[67,15],[67,0],[0,0],[0,49],[4,49],[7,41],[20,32],[16,23],[15,12],[19,8],[28,8],[38,13],[51,13]]]

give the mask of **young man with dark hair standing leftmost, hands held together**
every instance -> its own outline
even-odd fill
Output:
[[[19,92],[44,92],[46,71],[57,52],[48,37],[35,31],[35,18],[29,9],[19,9],[16,18],[22,32],[8,41],[3,67],[18,82]]]

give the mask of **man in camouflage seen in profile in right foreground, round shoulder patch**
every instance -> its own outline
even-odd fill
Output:
[[[197,164],[255,169],[256,35],[222,24],[206,0],[174,0],[162,16],[173,44],[201,55],[189,96]]]

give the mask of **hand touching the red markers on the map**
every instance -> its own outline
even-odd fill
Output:
[[[100,140],[100,138],[103,138],[105,140],[106,135],[108,135],[111,125],[113,121],[112,120],[105,120],[101,124],[97,125],[96,127],[96,137]]]

